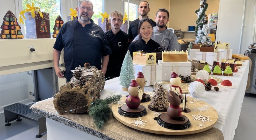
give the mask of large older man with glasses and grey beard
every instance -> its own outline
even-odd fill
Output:
[[[76,7],[78,18],[66,22],[60,29],[53,46],[53,64],[59,78],[70,81],[74,70],[79,65],[90,63],[104,74],[107,71],[109,55],[112,51],[103,30],[91,19],[93,3],[82,0]],[[63,75],[59,67],[61,50],[64,49],[66,73]],[[101,66],[102,59],[102,66]]]

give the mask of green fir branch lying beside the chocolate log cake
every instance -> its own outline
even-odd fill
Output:
[[[112,95],[103,100],[97,99],[89,107],[89,116],[93,118],[98,129],[102,129],[105,121],[109,118],[111,109],[109,104],[117,103],[122,99],[122,95]]]

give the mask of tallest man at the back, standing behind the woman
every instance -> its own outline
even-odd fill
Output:
[[[132,21],[129,25],[128,35],[130,38],[130,41],[132,42],[133,39],[138,35],[138,26],[139,22],[143,18],[148,18],[148,12],[150,11],[149,4],[147,1],[141,1],[140,6],[138,8],[138,12],[140,13],[140,16],[138,19]],[[151,20],[153,23],[153,27],[156,26],[156,22]]]

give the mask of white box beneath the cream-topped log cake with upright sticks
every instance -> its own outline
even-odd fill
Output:
[[[191,62],[162,62],[158,61],[158,64],[162,64],[162,81],[169,81],[171,78],[171,72],[176,72],[178,75],[187,76],[191,74]]]

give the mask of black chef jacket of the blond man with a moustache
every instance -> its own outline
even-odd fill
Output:
[[[109,55],[108,68],[105,76],[106,78],[119,77],[123,59],[130,45],[129,36],[122,30],[115,35],[111,29],[106,31],[105,35],[112,50],[112,54]]]

